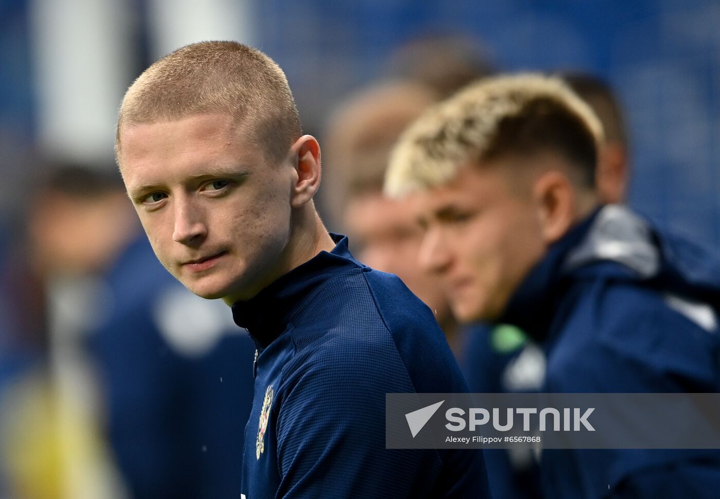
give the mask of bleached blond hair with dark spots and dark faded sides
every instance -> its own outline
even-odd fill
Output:
[[[441,186],[464,164],[559,153],[593,188],[603,129],[560,78],[522,73],[485,78],[423,113],[390,155],[391,197]]]

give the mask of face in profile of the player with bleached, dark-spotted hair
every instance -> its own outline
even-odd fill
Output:
[[[530,187],[503,161],[463,166],[448,184],[411,198],[426,228],[420,264],[441,277],[459,320],[499,318],[546,251]]]

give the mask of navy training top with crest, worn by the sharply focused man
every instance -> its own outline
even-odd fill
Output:
[[[233,305],[258,346],[244,497],[489,497],[480,450],[385,449],[386,393],[467,385],[430,309],[332,236]]]

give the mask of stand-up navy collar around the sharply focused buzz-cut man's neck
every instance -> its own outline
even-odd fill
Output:
[[[246,302],[233,305],[233,320],[246,328],[261,346],[268,346],[302,310],[307,298],[328,279],[363,265],[351,255],[348,238],[330,233],[335,248],[320,251],[295,267]]]

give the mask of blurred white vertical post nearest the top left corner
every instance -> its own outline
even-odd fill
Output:
[[[38,135],[50,157],[113,157],[117,107],[130,84],[130,5],[30,0]]]

